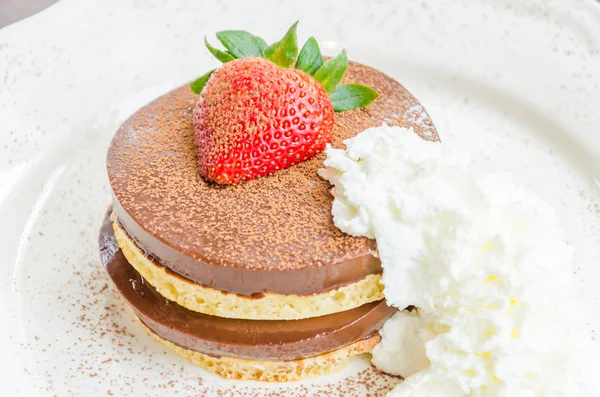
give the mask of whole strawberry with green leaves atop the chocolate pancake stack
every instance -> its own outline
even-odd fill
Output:
[[[331,142],[334,110],[377,97],[368,87],[338,84],[345,51],[324,63],[310,38],[298,55],[296,24],[270,46],[244,31],[217,33],[227,51],[205,40],[224,65],[190,85],[200,94],[193,125],[204,178],[237,184],[308,160]]]

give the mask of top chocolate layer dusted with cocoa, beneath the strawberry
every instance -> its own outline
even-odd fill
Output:
[[[392,78],[351,63],[344,82],[373,87],[380,97],[336,114],[334,147],[383,122],[438,139],[416,98]],[[142,248],[190,280],[244,295],[322,292],[381,271],[373,241],[333,225],[329,185],[317,175],[324,153],[236,186],[202,180],[196,101],[187,86],[158,98],[127,120],[109,147],[115,213]]]

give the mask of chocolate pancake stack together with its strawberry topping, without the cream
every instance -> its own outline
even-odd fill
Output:
[[[207,47],[225,65],[140,109],[107,155],[113,284],[155,338],[230,378],[301,379],[371,351],[397,309],[373,240],[333,224],[321,151],[383,122],[437,139],[398,82],[345,51],[324,61],[314,39],[298,53],[295,26],[271,46],[220,32],[227,51]]]

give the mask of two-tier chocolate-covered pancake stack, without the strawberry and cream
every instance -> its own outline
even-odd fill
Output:
[[[383,73],[350,63],[344,81],[380,96],[335,115],[332,145],[382,123],[437,140],[418,101]],[[289,381],[368,353],[395,313],[383,300],[373,241],[331,218],[325,154],[240,185],[197,172],[185,86],[140,109],[108,150],[113,205],[102,262],[160,342],[228,378]]]

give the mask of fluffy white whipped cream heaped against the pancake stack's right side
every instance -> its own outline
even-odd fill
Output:
[[[383,125],[326,150],[335,225],[375,238],[401,311],[373,363],[419,396],[600,395],[575,299],[572,248],[552,208],[505,174]]]

